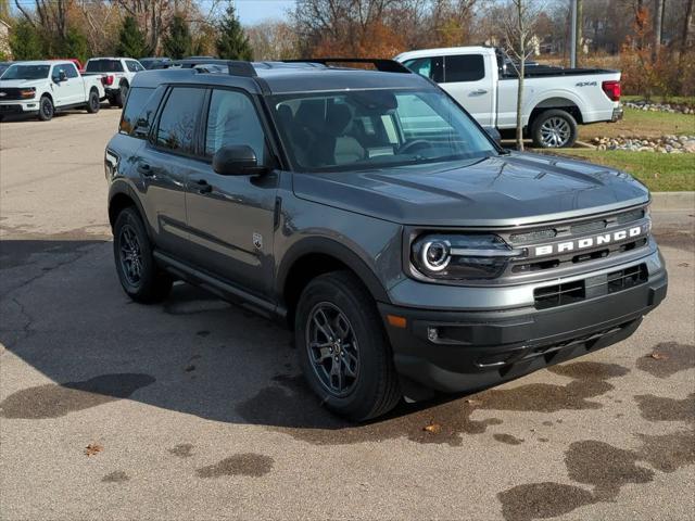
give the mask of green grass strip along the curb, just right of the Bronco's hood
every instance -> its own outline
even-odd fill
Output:
[[[695,154],[564,149],[559,154],[629,171],[655,192],[695,190]]]

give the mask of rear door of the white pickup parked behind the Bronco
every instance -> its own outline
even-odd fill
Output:
[[[494,125],[494,86],[490,63],[482,54],[444,56],[441,87],[473,116],[480,125]]]

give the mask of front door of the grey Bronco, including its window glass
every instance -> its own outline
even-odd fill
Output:
[[[237,90],[211,90],[205,116],[206,162],[191,173],[186,191],[194,264],[245,291],[267,296],[273,287],[278,174],[220,176],[212,168],[215,152],[229,144],[249,145],[258,164],[267,163],[263,125],[252,99]]]

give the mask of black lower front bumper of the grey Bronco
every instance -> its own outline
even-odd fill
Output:
[[[660,266],[632,288],[548,309],[457,312],[380,304],[380,312],[404,382],[456,393],[511,380],[627,339],[666,297],[667,285]],[[390,325],[389,315],[404,317],[407,326]]]

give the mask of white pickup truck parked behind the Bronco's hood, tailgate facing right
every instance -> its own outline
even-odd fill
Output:
[[[511,61],[492,47],[427,49],[399,54],[396,61],[440,84],[483,127],[509,135],[516,128],[518,74]],[[522,119],[535,147],[571,147],[577,125],[617,122],[620,72],[526,67]]]

